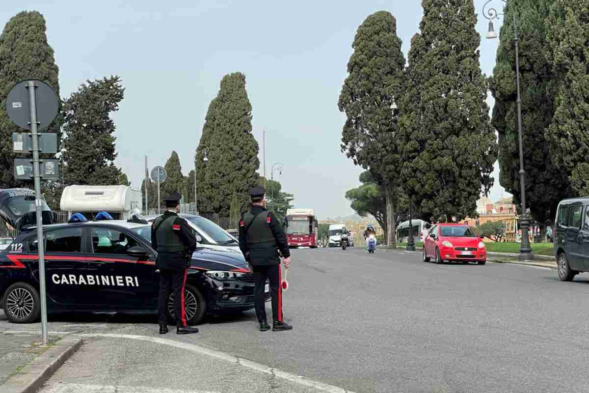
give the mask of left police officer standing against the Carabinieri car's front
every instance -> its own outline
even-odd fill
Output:
[[[184,286],[197,243],[186,220],[178,217],[180,198],[178,193],[164,198],[166,212],[151,225],[151,245],[157,250],[155,266],[160,270],[160,296],[157,303],[160,334],[168,332],[166,309],[171,292],[174,293],[176,333],[198,333],[198,328],[187,326],[184,309]]]

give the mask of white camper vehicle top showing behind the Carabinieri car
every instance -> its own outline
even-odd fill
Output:
[[[141,213],[141,190],[129,186],[67,186],[61,194],[61,210],[82,213],[93,220],[97,213],[107,212],[115,220],[127,220],[133,213]]]

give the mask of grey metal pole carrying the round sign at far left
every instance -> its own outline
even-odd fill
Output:
[[[35,210],[37,212],[37,247],[39,252],[39,286],[41,289],[41,335],[47,345],[47,290],[45,289],[45,253],[43,241],[43,216],[41,214],[41,173],[39,172],[39,134],[37,133],[37,95],[35,82],[28,81],[31,103],[31,134],[33,144],[33,176],[35,179]]]

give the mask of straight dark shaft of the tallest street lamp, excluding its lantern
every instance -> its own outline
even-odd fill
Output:
[[[521,95],[519,92],[519,37],[517,30],[517,19],[514,10],[514,29],[515,29],[515,80],[517,81],[517,128],[519,136],[519,187],[521,187],[521,247],[519,248],[519,260],[533,260],[534,253],[530,247],[528,237],[527,209],[525,207],[525,170],[524,170],[524,143],[522,141],[521,130]]]

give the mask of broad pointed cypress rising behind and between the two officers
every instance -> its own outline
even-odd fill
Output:
[[[209,129],[210,126],[210,129]],[[252,104],[247,97],[246,77],[240,72],[225,75],[219,94],[211,102],[203,137],[197,151],[197,177],[203,168],[203,139],[209,148],[209,164],[204,179],[197,184],[199,206],[228,216],[233,195],[244,209],[249,203],[247,190],[256,184],[258,144],[252,135]],[[203,200],[201,205],[200,200]]]

